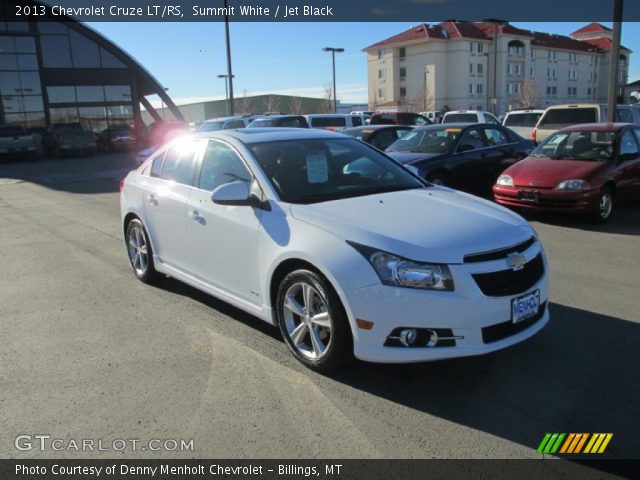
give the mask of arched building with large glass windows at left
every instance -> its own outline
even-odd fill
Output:
[[[95,30],[69,17],[18,21],[14,11],[15,5],[0,4],[0,124],[80,122],[94,132],[123,124],[138,130],[142,110],[161,120],[149,96],[159,96],[174,118],[182,118],[162,85]]]

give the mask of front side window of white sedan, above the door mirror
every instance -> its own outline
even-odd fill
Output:
[[[211,141],[202,158],[198,188],[212,192],[234,181],[251,181],[251,173],[238,154],[224,143]]]

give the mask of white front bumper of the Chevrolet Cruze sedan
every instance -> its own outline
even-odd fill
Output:
[[[527,262],[542,256],[544,273],[533,286],[514,295],[489,297],[482,293],[473,274],[505,270],[506,260],[450,265],[455,290],[442,292],[391,287],[382,284],[347,294],[350,316],[373,322],[371,330],[354,328],[354,354],[365,361],[409,363],[482,355],[519,343],[541,330],[549,321],[548,266],[540,244],[523,252]],[[511,300],[540,290],[537,317],[511,322]],[[452,346],[385,346],[390,333],[400,327],[450,331]],[[446,343],[446,342],[445,342]]]

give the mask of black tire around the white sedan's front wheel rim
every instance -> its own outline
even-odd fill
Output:
[[[284,321],[283,305],[285,294],[291,285],[299,282],[308,283],[318,291],[322,300],[327,305],[327,310],[331,317],[331,342],[327,353],[319,360],[306,358],[298,351],[289,338],[287,326]],[[291,272],[284,277],[280,282],[276,296],[276,317],[278,326],[280,327],[280,333],[287,347],[291,353],[293,353],[294,357],[308,368],[317,372],[326,373],[335,369],[348,359],[348,354],[352,349],[349,321],[344,313],[340,298],[335,293],[333,287],[324,277],[316,272],[301,269]]]

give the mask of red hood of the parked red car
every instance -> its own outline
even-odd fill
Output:
[[[516,186],[555,188],[564,180],[587,180],[605,165],[605,162],[528,157],[509,167],[505,174],[513,178]]]

